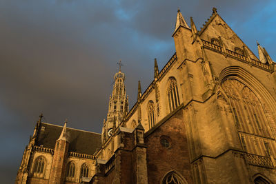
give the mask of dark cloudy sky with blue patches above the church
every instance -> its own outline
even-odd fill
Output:
[[[175,53],[177,8],[197,29],[218,13],[257,54],[276,59],[276,3],[257,0],[1,0],[0,178],[14,183],[24,147],[43,121],[101,132],[121,59],[130,108]],[[143,90],[142,89],[142,90]]]

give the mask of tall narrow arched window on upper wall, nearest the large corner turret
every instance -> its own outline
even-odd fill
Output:
[[[168,98],[169,110],[170,112],[172,112],[180,104],[177,81],[175,80],[175,78],[170,78],[170,80],[168,81],[167,98]]]

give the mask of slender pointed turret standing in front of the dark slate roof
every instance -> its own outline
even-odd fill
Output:
[[[69,142],[66,136],[66,123],[56,141],[55,152],[52,158],[49,183],[63,183],[66,171],[66,159],[68,156]]]

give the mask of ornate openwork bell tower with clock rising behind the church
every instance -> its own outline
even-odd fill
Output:
[[[121,72],[121,61],[118,63],[119,72],[114,75],[112,94],[109,97],[108,116],[103,120],[101,141],[104,143],[128,113],[128,96],[126,96],[125,74]]]

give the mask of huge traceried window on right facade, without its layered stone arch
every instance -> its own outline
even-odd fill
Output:
[[[237,79],[226,79],[221,87],[228,97],[244,151],[260,156],[276,156],[276,143],[270,128],[275,122],[264,101]]]

